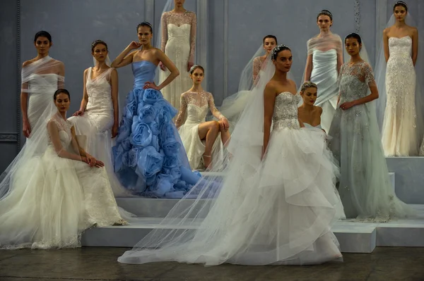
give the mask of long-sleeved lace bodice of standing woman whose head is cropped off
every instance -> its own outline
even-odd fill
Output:
[[[165,12],[162,15],[162,39],[160,49],[165,52],[168,41],[176,41],[176,44],[189,44],[189,61],[194,61],[194,49],[196,46],[197,19],[196,14],[190,11],[184,13]]]

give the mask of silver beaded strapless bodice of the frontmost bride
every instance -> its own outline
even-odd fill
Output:
[[[276,96],[272,116],[273,130],[300,129],[298,120],[299,94],[282,92]]]

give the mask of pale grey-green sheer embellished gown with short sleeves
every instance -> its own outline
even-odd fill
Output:
[[[365,62],[343,64],[338,79],[340,104],[367,96],[375,85],[372,68]],[[338,108],[329,135],[329,147],[340,162],[338,192],[347,218],[385,222],[411,212],[391,186],[373,104]]]

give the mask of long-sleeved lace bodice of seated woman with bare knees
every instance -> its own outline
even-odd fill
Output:
[[[204,123],[208,109],[213,116],[219,120],[225,118],[215,106],[213,96],[209,92],[185,92],[181,95],[181,107],[175,125],[177,127],[184,124],[184,118],[187,115],[186,123]]]

